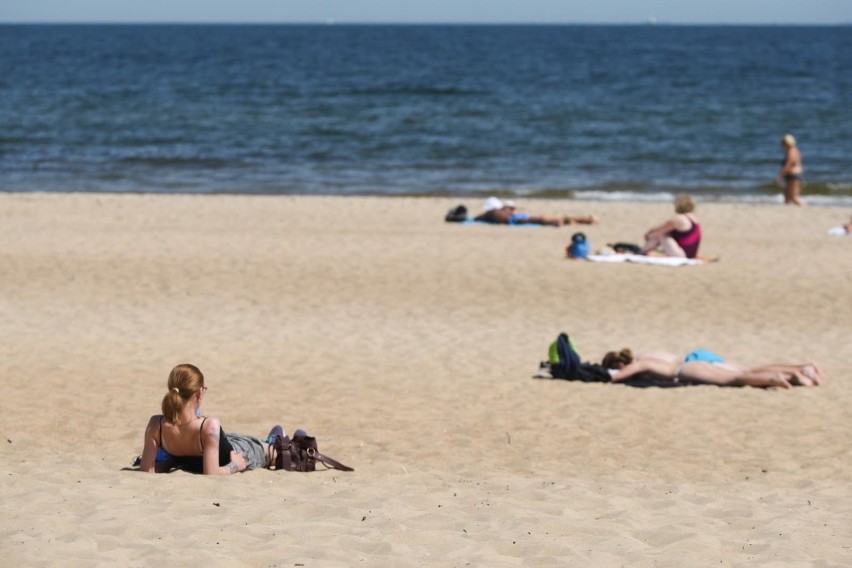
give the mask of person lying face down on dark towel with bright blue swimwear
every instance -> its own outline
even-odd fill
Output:
[[[774,364],[748,368],[727,363],[708,351],[693,351],[686,358],[673,353],[656,351],[636,357],[630,349],[610,351],[601,364],[610,369],[612,382],[624,381],[637,375],[675,383],[711,384],[731,387],[817,386],[825,381],[816,363],[804,365]]]

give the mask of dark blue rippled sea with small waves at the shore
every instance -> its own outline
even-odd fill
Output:
[[[2,25],[0,191],[852,205],[852,27]]]

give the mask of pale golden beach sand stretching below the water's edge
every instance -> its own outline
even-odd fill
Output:
[[[852,565],[848,212],[699,203],[721,260],[669,268],[444,223],[464,201],[0,194],[3,563]],[[518,204],[599,215],[593,249],[672,212]],[[531,378],[560,331],[830,382]],[[227,431],[303,427],[356,471],[133,471],[183,362]]]

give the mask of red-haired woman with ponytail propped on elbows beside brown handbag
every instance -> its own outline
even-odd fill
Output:
[[[269,443],[252,436],[225,434],[218,418],[201,414],[207,387],[198,367],[184,364],[172,369],[168,389],[163,397],[163,414],[152,416],[145,429],[142,471],[183,469],[231,475],[271,465]],[[274,440],[276,434],[284,436],[281,426],[275,426],[267,440]]]

